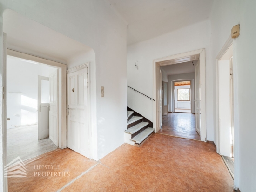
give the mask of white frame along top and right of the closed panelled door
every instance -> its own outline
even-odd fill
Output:
[[[82,64],[80,66],[76,66],[74,68],[68,69],[67,73],[73,73],[75,71],[79,71],[83,68],[88,68],[88,146],[89,146],[89,159],[92,159],[93,157],[93,151],[92,151],[92,122],[91,122],[91,77],[90,77],[90,62],[87,62],[85,64]],[[68,127],[67,127],[68,129]]]

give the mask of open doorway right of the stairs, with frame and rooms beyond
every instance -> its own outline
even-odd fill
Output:
[[[206,141],[205,50],[153,60],[153,69],[155,83],[153,90],[156,96],[153,105],[155,132]],[[168,74],[169,113],[163,116],[160,79],[165,79],[163,76],[166,74]]]

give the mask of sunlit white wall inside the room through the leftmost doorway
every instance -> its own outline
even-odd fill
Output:
[[[7,58],[7,128],[37,123],[38,75],[49,77],[55,68]],[[20,92],[23,94],[13,94]]]

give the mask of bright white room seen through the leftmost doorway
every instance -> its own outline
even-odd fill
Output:
[[[10,118],[7,121],[8,163],[17,157],[27,160],[57,148],[49,139],[49,78],[56,71],[56,68],[29,60],[7,57],[7,117]],[[39,82],[41,76],[48,80]],[[45,112],[47,117],[43,121],[44,129],[48,129],[48,132],[40,138],[38,106],[43,104],[47,105]]]

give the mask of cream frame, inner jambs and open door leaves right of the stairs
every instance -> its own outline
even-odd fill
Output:
[[[196,111],[195,113],[195,126],[196,127],[196,134],[200,134],[200,140],[206,141],[206,109],[205,109],[205,49],[196,50],[192,52],[187,53],[181,53],[177,55],[172,55],[160,59],[153,60],[153,91],[155,94],[156,102],[153,104],[153,126],[155,129],[155,132],[158,132],[162,127],[162,97],[160,94],[162,93],[162,83],[161,86],[159,85],[160,78],[162,80],[162,74],[160,67],[162,66],[168,66],[168,65],[174,65],[174,64],[182,64],[185,62],[192,62],[192,61],[198,61],[195,63],[195,66],[197,66],[198,73],[197,74],[197,80],[195,78],[195,84],[198,83],[197,89],[198,94],[195,94],[195,100],[197,99],[197,102],[193,102]],[[191,63],[191,65],[194,63]],[[183,78],[180,78],[181,80]],[[184,78],[188,79],[188,78]],[[196,86],[196,85],[195,85]],[[171,89],[172,90],[172,89]],[[194,101],[194,100],[193,100]],[[170,107],[174,107],[174,104]],[[191,108],[190,108],[191,110]]]

